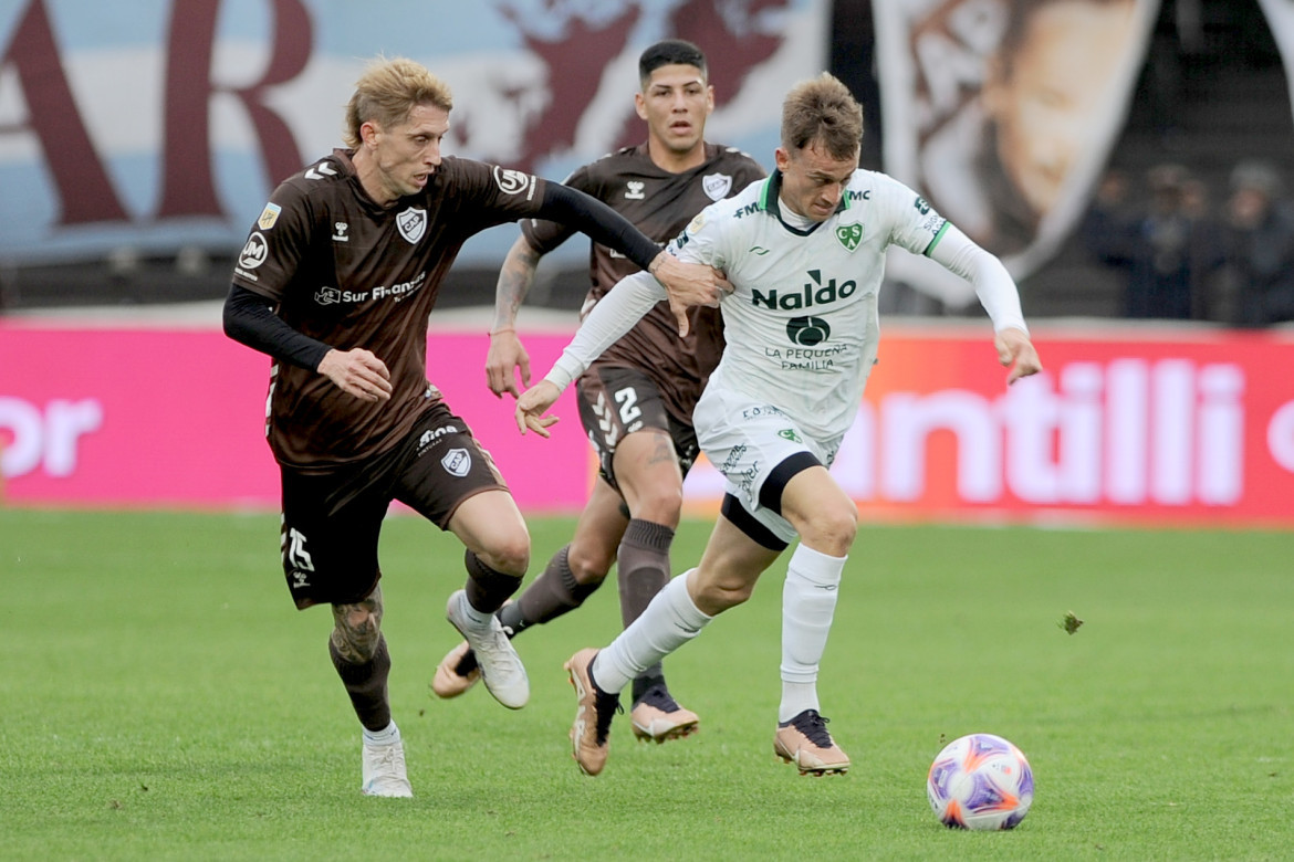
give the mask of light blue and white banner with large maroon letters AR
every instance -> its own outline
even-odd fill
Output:
[[[367,59],[454,92],[445,151],[563,178],[638,143],[638,54],[708,54],[710,140],[771,165],[827,67],[828,0],[10,0],[0,4],[0,264],[239,248],[278,181],[342,145]],[[516,229],[462,260],[499,261]],[[587,256],[571,243],[571,260]],[[559,252],[562,253],[562,252]]]

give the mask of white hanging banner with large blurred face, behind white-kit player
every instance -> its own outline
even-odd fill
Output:
[[[1066,238],[1123,129],[1159,0],[876,0],[885,169],[1017,279]],[[925,264],[925,265],[923,265]],[[892,255],[952,305],[967,283]]]

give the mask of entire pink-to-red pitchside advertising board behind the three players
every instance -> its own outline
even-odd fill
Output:
[[[536,373],[568,335],[531,333]],[[1044,373],[1007,388],[982,326],[890,327],[832,470],[873,520],[1294,527],[1294,336],[1039,328]],[[485,386],[487,340],[433,332],[431,376],[523,512],[573,513],[595,464],[571,392],[551,439]],[[69,362],[69,357],[76,357]],[[268,361],[210,330],[0,321],[5,505],[277,508]],[[713,512],[722,478],[694,468]]]

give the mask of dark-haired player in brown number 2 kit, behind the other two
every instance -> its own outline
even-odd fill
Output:
[[[666,40],[642,53],[638,115],[647,141],[578,168],[565,185],[607,203],[664,244],[708,204],[762,180],[754,159],[704,140],[714,107],[705,56],[691,43]],[[518,308],[540,257],[565,242],[572,229],[525,220],[499,274],[487,376],[496,395],[518,394],[515,372],[529,385],[529,358],[516,337]],[[638,271],[606,243],[590,252],[587,313],[621,278]],[[679,337],[669,304],[661,302],[602,358],[578,385],[580,419],[600,464],[600,481],[571,543],[549,561],[515,604],[499,609],[503,631],[515,636],[584,604],[617,565],[620,607],[628,625],[670,576],[669,547],[678,527],[683,477],[697,454],[692,407],[723,350],[718,310],[694,308]],[[477,657],[466,642],[441,662],[432,684],[455,697],[477,678]],[[697,726],[665,685],[660,664],[633,684],[631,720],[642,739],[664,742]]]

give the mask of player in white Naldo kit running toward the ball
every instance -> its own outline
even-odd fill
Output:
[[[672,243],[722,270],[727,345],[694,414],[701,450],[725,476],[721,517],[700,563],[673,580],[609,646],[576,653],[572,743],[593,775],[607,759],[620,690],[641,668],[741,604],[796,538],[783,588],[782,703],[774,751],[801,773],[842,773],[817,678],[857,530],[854,501],[831,467],[876,361],[876,295],[885,249],[899,246],[969,279],[992,319],[1008,384],[1042,366],[1014,282],[1002,262],[915,191],[858,168],[862,109],[831,75],[783,105],[776,171],[707,207]],[[603,349],[664,297],[655,279],[621,280],[593,310],[543,381],[518,401],[518,425],[547,436],[542,414]]]

